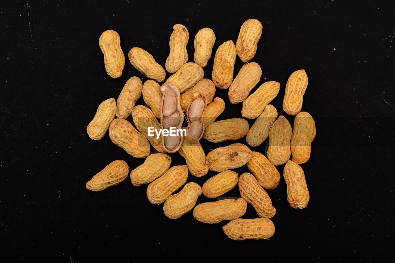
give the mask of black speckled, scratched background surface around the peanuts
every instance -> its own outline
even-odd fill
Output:
[[[393,261],[395,26],[392,1],[6,1],[1,4],[0,242],[7,261]],[[126,80],[145,76],[132,67],[132,47],[164,66],[172,26],[188,28],[189,62],[196,32],[216,35],[214,52],[249,18],[263,25],[261,83],[281,83],[279,114],[290,74],[301,68],[309,84],[302,110],[316,121],[310,160],[301,165],[310,202],[295,210],[284,179],[267,192],[277,213],[271,240],[234,241],[226,222],[200,223],[188,213],[171,220],[147,200],[147,185],[130,179],[101,192],[85,183],[116,159],[131,169],[143,162],[111,142],[92,141],[86,127],[100,102],[119,95]],[[126,55],[119,79],[107,76],[100,34],[116,30]],[[236,59],[235,74],[243,63]],[[166,78],[170,76],[166,74]],[[218,120],[241,117],[226,101]],[[142,97],[137,104],[144,104]],[[293,117],[286,115],[293,123]],[[131,117],[128,118],[132,121]],[[253,121],[249,121],[252,125]],[[245,138],[236,142],[245,143]],[[229,145],[201,140],[209,149]],[[253,148],[265,151],[265,143]],[[185,161],[171,155],[172,165]],[[277,167],[280,173],[283,166]],[[235,169],[241,174],[245,167]],[[216,174],[189,176],[202,185]],[[237,187],[225,194],[237,197]],[[199,197],[198,203],[210,199]],[[212,200],[213,201],[213,200]],[[245,218],[257,217],[248,205]]]

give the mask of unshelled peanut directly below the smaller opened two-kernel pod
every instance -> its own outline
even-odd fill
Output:
[[[205,162],[206,155],[199,142],[191,143],[188,140],[183,140],[178,152],[184,157],[192,175],[201,177],[209,172],[209,166]]]

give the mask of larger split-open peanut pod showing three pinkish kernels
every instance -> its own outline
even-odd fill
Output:
[[[184,122],[184,113],[180,106],[180,93],[173,85],[163,84],[160,126],[162,129],[176,127],[180,129]],[[162,136],[163,148],[168,153],[175,153],[182,145],[183,136]]]

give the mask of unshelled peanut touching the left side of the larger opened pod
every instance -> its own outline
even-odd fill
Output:
[[[148,127],[154,127],[157,131],[160,130],[160,123],[152,111],[143,105],[137,105],[133,108],[132,118],[137,130],[148,139],[152,147],[160,153],[164,153],[165,149],[163,148],[162,137],[159,136],[157,140],[154,132],[152,132],[154,136],[148,136]]]

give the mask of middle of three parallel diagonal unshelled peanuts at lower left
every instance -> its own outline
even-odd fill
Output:
[[[188,167],[186,165],[171,167],[164,175],[148,185],[148,200],[152,204],[161,204],[173,192],[184,185],[187,179]]]

